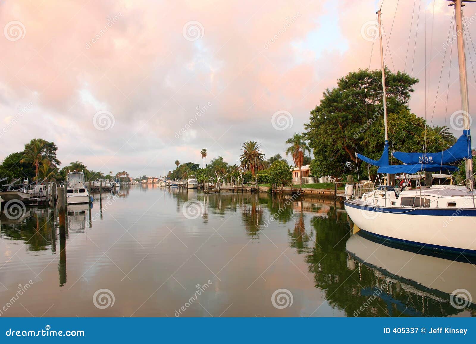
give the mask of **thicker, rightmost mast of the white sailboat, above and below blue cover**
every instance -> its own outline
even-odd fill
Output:
[[[469,130],[469,99],[468,99],[468,82],[466,76],[466,56],[465,56],[465,42],[463,38],[463,11],[462,0],[455,0],[455,18],[456,18],[456,42],[458,45],[458,69],[459,69],[459,88],[461,91],[461,110],[463,113],[463,125],[465,130]],[[473,186],[473,159],[470,157],[465,161],[466,165],[466,180],[469,183],[469,189],[474,190]]]

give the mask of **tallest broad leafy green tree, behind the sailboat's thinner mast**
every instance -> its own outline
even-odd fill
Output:
[[[388,113],[407,109],[407,102],[418,79],[407,73],[385,69]],[[363,151],[363,134],[383,117],[382,74],[379,69],[359,69],[337,80],[337,87],[326,89],[320,103],[310,112],[305,125],[306,138],[313,149],[311,173],[333,176],[355,170],[355,153]],[[383,142],[382,142],[383,145]]]

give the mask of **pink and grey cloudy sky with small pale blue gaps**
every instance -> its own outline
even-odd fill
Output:
[[[385,64],[420,79],[409,106],[462,128],[454,7],[443,0],[0,2],[0,158],[31,138],[62,166],[163,175],[175,161],[238,164],[242,143],[285,156],[326,88]],[[476,4],[464,14],[476,38]],[[448,41],[448,37],[449,40]],[[469,40],[468,90],[476,95]],[[291,162],[291,159],[288,159]]]

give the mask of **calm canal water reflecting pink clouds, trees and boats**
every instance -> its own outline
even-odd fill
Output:
[[[450,297],[476,297],[475,265],[352,235],[339,203],[132,186],[100,212],[95,197],[65,233],[50,209],[2,213],[1,316],[476,315]]]

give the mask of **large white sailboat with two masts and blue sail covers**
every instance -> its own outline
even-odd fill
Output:
[[[455,6],[456,30],[463,33],[462,0],[452,0]],[[377,12],[379,31],[381,11]],[[388,159],[387,107],[382,35],[380,32],[380,61],[382,64],[382,93],[384,106],[385,146],[379,160],[361,154],[356,156],[387,174],[387,185],[381,185],[360,195],[347,188],[344,202],[354,223],[354,232],[362,230],[384,240],[424,247],[430,250],[476,255],[476,198],[473,186],[473,162],[469,100],[466,80],[466,60],[463,34],[457,35],[461,114],[463,135],[456,144],[438,153],[394,152],[402,165],[390,165]],[[418,172],[451,173],[459,161],[466,163],[466,185],[437,185],[411,187],[390,185],[391,176]],[[353,199],[353,197],[358,197]]]

